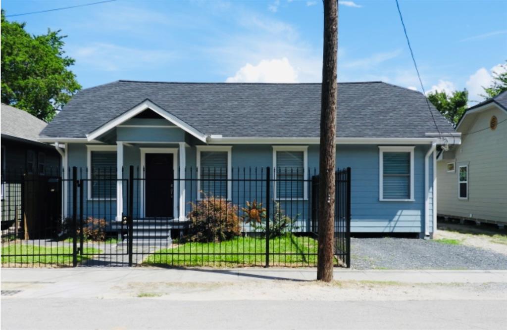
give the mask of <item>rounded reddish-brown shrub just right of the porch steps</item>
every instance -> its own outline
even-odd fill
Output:
[[[241,234],[237,205],[214,197],[191,205],[188,240],[202,243],[221,242]]]

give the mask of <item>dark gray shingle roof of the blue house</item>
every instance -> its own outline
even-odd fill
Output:
[[[318,137],[320,84],[117,81],[77,93],[44,129],[48,137],[85,137],[145,99],[204,134]],[[441,132],[452,126],[431,105]],[[337,136],[424,137],[437,132],[425,97],[382,83],[338,84]]]

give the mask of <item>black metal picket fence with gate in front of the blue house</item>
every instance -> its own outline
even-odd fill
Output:
[[[18,186],[3,195],[2,265],[316,265],[316,171],[182,172],[130,167],[119,179],[116,169],[73,168],[3,180]],[[350,168],[337,171],[336,187],[336,266],[350,267]]]

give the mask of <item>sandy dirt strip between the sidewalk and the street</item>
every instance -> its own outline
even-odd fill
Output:
[[[101,298],[143,297],[164,300],[501,300],[505,283],[401,283],[395,281],[245,281],[221,283],[130,282]]]

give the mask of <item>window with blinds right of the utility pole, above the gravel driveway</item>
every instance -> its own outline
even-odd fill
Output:
[[[410,199],[410,152],[383,153],[383,199]]]

